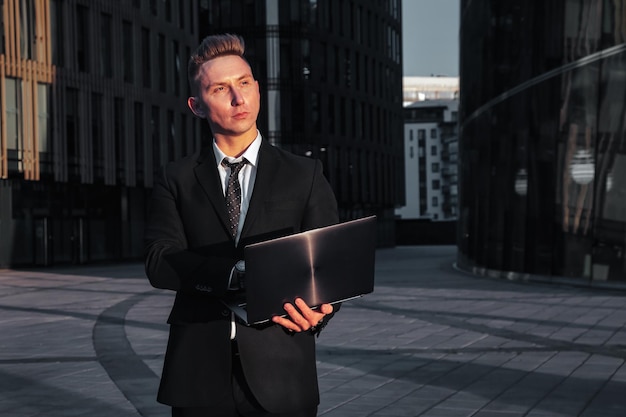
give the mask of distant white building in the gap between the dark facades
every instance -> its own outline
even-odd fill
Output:
[[[405,99],[411,94],[405,83]],[[406,199],[395,211],[400,245],[456,240],[458,104],[456,99],[433,99],[404,107]]]

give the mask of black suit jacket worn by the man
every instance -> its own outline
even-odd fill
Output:
[[[265,140],[248,213],[235,247],[212,146],[168,164],[155,181],[147,223],[146,273],[176,291],[158,400],[177,407],[219,407],[231,395],[231,316],[220,302],[243,247],[337,223],[337,203],[319,161]],[[246,380],[268,411],[319,403],[315,342],[282,327],[237,325]]]

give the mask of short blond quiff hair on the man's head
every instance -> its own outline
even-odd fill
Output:
[[[246,46],[243,38],[238,35],[225,33],[223,35],[210,35],[202,40],[198,48],[189,58],[187,64],[187,77],[191,91],[197,91],[197,77],[200,67],[212,59],[226,55],[236,55],[243,57]],[[247,61],[246,61],[247,62]]]

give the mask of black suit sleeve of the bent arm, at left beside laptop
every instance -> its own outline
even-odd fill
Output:
[[[221,296],[237,259],[220,248],[190,250],[178,204],[178,187],[163,169],[152,191],[144,235],[146,275],[155,288]]]

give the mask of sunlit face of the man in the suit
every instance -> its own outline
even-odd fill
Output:
[[[208,120],[214,135],[256,136],[259,83],[243,58],[227,55],[205,62],[196,85],[197,96],[189,98],[189,107]]]

